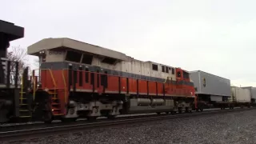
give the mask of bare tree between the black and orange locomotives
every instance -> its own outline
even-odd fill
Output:
[[[23,49],[21,46],[12,46],[7,52],[7,58],[10,62],[10,82],[14,82],[14,76],[16,70],[15,62],[18,62],[18,83],[21,82],[23,70],[27,66],[27,53],[26,49]]]

